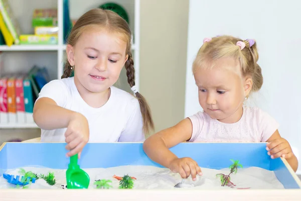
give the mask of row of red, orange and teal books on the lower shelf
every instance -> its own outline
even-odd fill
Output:
[[[33,124],[34,103],[50,81],[47,69],[34,66],[26,74],[0,78],[1,125]]]

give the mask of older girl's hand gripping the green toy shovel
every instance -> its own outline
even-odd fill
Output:
[[[71,150],[67,156],[78,153],[78,158],[84,146],[89,141],[89,124],[87,119],[80,113],[75,113],[69,121],[65,132],[66,149]]]

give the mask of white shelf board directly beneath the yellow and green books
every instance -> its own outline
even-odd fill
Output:
[[[58,45],[0,45],[0,51],[56,51]]]

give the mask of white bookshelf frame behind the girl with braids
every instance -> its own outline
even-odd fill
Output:
[[[63,0],[10,0],[13,14],[17,18],[22,34],[33,34],[31,24],[35,9],[58,9],[58,44],[57,45],[0,45],[0,74],[26,72],[33,65],[46,66],[51,79],[61,79],[66,59],[66,45],[63,43]],[[121,5],[129,16],[129,26],[134,36],[132,55],[135,67],[135,83],[139,90],[139,8],[140,0],[69,0],[71,19],[78,19],[90,9],[98,8],[103,3],[114,2]],[[124,68],[121,71],[117,87],[130,91]],[[37,128],[36,124],[0,124],[0,129]]]

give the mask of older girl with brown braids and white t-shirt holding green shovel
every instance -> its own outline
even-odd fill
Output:
[[[34,106],[42,142],[65,141],[67,156],[80,157],[87,142],[145,140],[154,124],[135,87],[130,39],[128,24],[114,12],[93,9],[79,18],[62,79],[47,83]],[[112,86],[123,66],[135,97]]]

